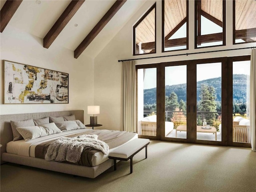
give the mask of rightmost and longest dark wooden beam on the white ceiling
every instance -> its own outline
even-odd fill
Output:
[[[74,51],[74,58],[78,58],[80,54],[86,49],[86,47],[94,40],[94,38],[100,33],[100,31],[106,26],[106,24],[112,19],[112,17],[118,12],[118,10],[124,5],[126,0],[117,0],[113,6],[106,12],[102,19],[96,24],[86,38],[80,43],[80,45]]]

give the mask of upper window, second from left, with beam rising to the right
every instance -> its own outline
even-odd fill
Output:
[[[162,1],[162,52],[188,49],[188,0]]]

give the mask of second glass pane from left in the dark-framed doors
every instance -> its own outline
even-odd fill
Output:
[[[186,102],[187,66],[165,67],[165,137],[187,138]]]

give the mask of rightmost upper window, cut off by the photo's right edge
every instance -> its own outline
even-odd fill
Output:
[[[233,44],[256,42],[256,1],[233,1]]]

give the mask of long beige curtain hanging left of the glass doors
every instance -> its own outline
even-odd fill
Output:
[[[135,61],[123,61],[122,70],[122,130],[136,132]]]

